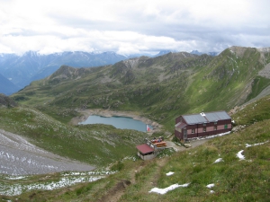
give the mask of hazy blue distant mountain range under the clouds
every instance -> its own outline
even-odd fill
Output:
[[[175,50],[161,50],[158,57]],[[199,51],[193,54],[202,55]],[[41,55],[35,51],[28,51],[22,56],[16,54],[0,55],[0,92],[9,95],[23,89],[32,81],[45,78],[54,73],[59,66],[93,67],[112,65],[121,60],[141,55],[122,56],[114,52],[62,52]],[[149,57],[149,56],[148,56]],[[6,80],[9,80],[7,82]]]

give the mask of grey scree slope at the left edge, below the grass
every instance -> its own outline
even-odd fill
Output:
[[[32,145],[23,136],[0,129],[0,173],[29,175],[93,170],[94,166],[49,153]]]

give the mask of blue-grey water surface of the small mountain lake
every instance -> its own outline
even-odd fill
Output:
[[[146,132],[146,124],[144,122],[129,117],[101,117],[93,115],[88,117],[84,122],[78,124],[106,124],[116,128],[134,129]],[[150,128],[152,129],[152,127]]]

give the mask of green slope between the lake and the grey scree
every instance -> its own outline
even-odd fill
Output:
[[[0,110],[0,128],[27,136],[50,152],[96,166],[107,165],[129,154],[145,133],[106,125],[69,126],[27,107]]]

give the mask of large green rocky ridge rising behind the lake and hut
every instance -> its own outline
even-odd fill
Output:
[[[270,84],[269,78],[258,76],[268,63],[267,51],[232,47],[217,57],[182,52],[136,57],[113,66],[61,66],[12,97],[45,113],[59,109],[140,111],[173,132],[180,114],[229,111],[256,97]]]

